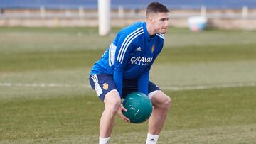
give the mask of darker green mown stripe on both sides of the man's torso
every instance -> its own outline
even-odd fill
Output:
[[[184,46],[166,48],[159,63],[193,63],[255,60],[255,45]],[[11,52],[0,57],[1,71],[49,70],[90,67],[104,50],[58,50],[47,52]]]

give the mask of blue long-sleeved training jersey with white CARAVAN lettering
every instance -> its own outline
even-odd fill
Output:
[[[137,79],[138,92],[148,94],[149,70],[163,45],[163,34],[150,37],[146,23],[134,23],[117,33],[110,47],[93,65],[91,74],[113,74],[120,96],[123,79]]]

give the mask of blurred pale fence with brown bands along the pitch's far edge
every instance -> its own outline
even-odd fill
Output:
[[[169,9],[171,26],[186,27],[191,16],[206,16],[209,26],[220,28],[256,29],[256,9]],[[97,26],[97,9],[79,6],[76,9],[0,9],[0,26]],[[144,21],[145,9],[112,9],[112,26]],[[174,22],[172,22],[174,21]],[[241,24],[242,23],[242,24]]]

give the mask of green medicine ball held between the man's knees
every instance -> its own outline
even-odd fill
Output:
[[[122,104],[127,109],[123,111],[124,116],[129,118],[131,123],[143,123],[148,120],[153,109],[149,96],[141,92],[128,94]]]

